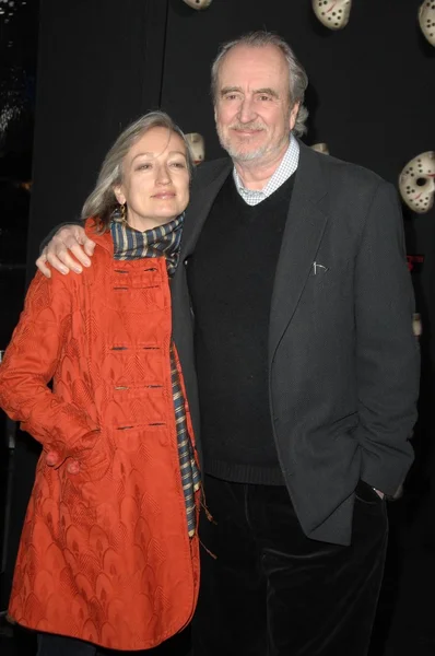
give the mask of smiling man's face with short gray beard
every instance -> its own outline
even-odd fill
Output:
[[[289,144],[289,67],[274,46],[235,46],[222,59],[214,116],[221,145],[236,162],[267,161]]]

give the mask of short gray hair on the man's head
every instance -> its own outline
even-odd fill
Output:
[[[250,48],[275,46],[281,50],[289,66],[290,107],[292,108],[296,103],[301,103],[296,122],[293,128],[293,133],[296,137],[304,134],[306,132],[305,121],[308,118],[308,109],[303,103],[305,91],[308,86],[308,75],[306,74],[304,67],[298,61],[296,55],[293,52],[289,44],[281,36],[278,36],[278,34],[273,34],[271,32],[249,32],[248,34],[244,34],[243,36],[221,46],[211,67],[211,93],[214,105],[217,101],[217,79],[222,60],[232,48],[235,48],[235,46],[248,46]]]

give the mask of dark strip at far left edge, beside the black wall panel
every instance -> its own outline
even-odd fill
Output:
[[[3,2],[0,10],[0,349],[4,349],[25,282],[38,0]]]

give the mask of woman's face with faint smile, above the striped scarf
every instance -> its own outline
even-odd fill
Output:
[[[127,202],[127,221],[144,231],[168,223],[189,202],[186,145],[176,132],[152,128],[131,147],[122,164],[122,184],[115,187]]]

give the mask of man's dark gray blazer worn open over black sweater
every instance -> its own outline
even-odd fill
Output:
[[[174,339],[199,450],[186,267],[231,169],[228,159],[197,169],[173,281]],[[413,312],[393,187],[301,144],[271,304],[269,407],[309,538],[349,544],[358,479],[393,494],[412,462],[420,371]]]

